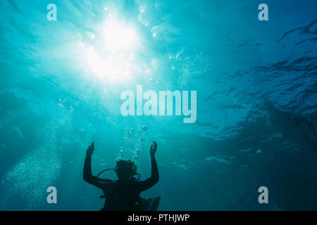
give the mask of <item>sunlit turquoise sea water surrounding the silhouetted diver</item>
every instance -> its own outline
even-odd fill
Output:
[[[261,3],[2,0],[0,210],[99,210],[89,143],[94,174],[133,158],[146,179],[154,140],[159,210],[317,210],[317,4]],[[197,120],[123,116],[137,85],[197,91]]]

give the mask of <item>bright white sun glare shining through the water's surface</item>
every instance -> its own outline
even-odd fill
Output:
[[[103,24],[99,36],[92,36],[92,39],[94,37],[97,41],[85,47],[85,61],[89,71],[99,79],[129,79],[135,70],[136,31],[111,18]]]

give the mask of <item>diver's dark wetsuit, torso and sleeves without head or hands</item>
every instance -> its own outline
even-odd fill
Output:
[[[145,181],[97,179],[96,176],[92,176],[92,158],[87,156],[84,165],[84,180],[104,191],[106,200],[104,208],[101,210],[147,210],[142,207],[144,205],[142,203],[146,200],[139,197],[139,194],[159,181],[159,169],[153,157],[151,158],[151,177]],[[98,180],[106,183],[101,183]]]

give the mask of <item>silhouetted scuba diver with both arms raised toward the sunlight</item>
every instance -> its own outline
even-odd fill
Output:
[[[139,196],[142,191],[151,188],[159,181],[159,169],[155,159],[156,149],[157,143],[154,141],[150,148],[151,177],[145,181],[139,181],[140,175],[137,174],[135,163],[130,160],[118,160],[116,168],[112,169],[116,172],[118,180],[113,181],[99,178],[101,173],[111,169],[104,169],[97,176],[92,176],[92,153],[94,153],[94,142],[92,142],[86,153],[84,180],[101,188],[104,192],[104,195],[100,196],[100,198],[106,198],[101,211],[154,211],[157,209],[161,197],[145,200]],[[135,176],[138,177],[135,178]]]

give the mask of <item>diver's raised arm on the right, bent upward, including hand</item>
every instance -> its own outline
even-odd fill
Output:
[[[145,181],[139,182],[139,187],[141,191],[147,190],[154,186],[157,182],[159,182],[159,168],[156,164],[155,153],[157,149],[156,141],[153,141],[153,145],[150,148],[150,156],[151,156],[151,177],[146,179]]]

